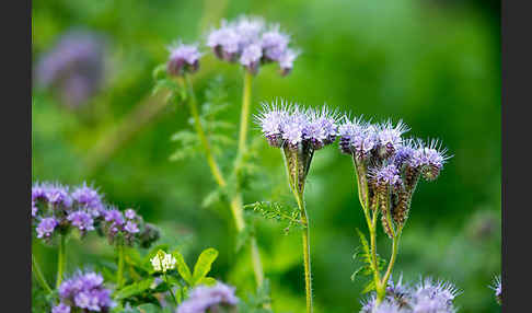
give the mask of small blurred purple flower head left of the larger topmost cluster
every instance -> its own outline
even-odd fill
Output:
[[[169,48],[170,59],[166,65],[167,72],[171,76],[184,76],[194,73],[199,69],[199,58],[201,53],[197,44],[184,45],[178,43]]]

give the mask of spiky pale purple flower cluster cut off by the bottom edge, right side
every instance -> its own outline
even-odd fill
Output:
[[[453,301],[459,295],[454,285],[446,281],[421,280],[414,287],[390,281],[386,297],[374,310],[374,294],[362,303],[361,313],[454,313]]]

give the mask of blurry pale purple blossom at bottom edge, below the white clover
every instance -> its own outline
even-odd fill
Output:
[[[239,298],[234,295],[234,288],[217,282],[212,287],[194,288],[189,298],[177,308],[176,313],[220,312],[221,308],[234,309],[238,303]]]

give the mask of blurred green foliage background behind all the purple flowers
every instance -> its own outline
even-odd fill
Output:
[[[117,125],[138,107],[157,106],[153,68],[165,61],[177,38],[203,39],[221,19],[261,15],[292,34],[302,55],[293,72],[279,77],[264,67],[253,83],[253,112],[259,101],[279,96],[311,106],[327,103],[374,120],[402,118],[410,136],[440,138],[454,156],[435,183],[421,183],[404,231],[395,276],[444,278],[463,293],[460,312],[499,312],[493,291],[500,273],[500,49],[497,1],[290,0],[290,1],[91,1],[33,2],[33,63],[58,36],[84,28],[107,38],[104,88],[83,107],[61,105],[54,93],[35,88],[32,105],[32,175],[65,184],[92,182],[120,208],[134,207],[161,225],[163,241],[183,243],[192,262],[208,246],[220,251],[213,276],[235,285],[239,295],[253,290],[245,253],[234,253],[233,225],[227,208],[203,208],[215,188],[205,159],[171,162],[178,148],[170,140],[190,128],[186,107],[164,107],[151,123],[116,146],[115,153],[94,150],[120,134]],[[239,120],[242,69],[211,54],[195,76],[200,100],[222,74],[230,109]],[[135,128],[134,127],[134,128]],[[238,127],[228,135],[236,137]],[[259,137],[253,128],[252,137]],[[225,151],[234,154],[234,151]],[[262,140],[262,169],[245,202],[292,204],[277,149]],[[99,162],[99,166],[94,162]],[[273,196],[274,195],[274,196]],[[350,280],[351,256],[359,245],[356,228],[366,231],[356,194],[351,161],[334,146],[314,156],[307,201],[311,219],[316,312],[357,312],[363,279]],[[266,276],[276,312],[304,310],[300,235],[282,225],[256,220]],[[379,251],[390,243],[379,235]],[[97,264],[113,252],[95,237],[71,241],[69,270]],[[34,242],[44,271],[55,274],[55,250]]]

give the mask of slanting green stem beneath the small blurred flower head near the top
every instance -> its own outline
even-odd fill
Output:
[[[198,134],[199,140],[201,141],[201,146],[204,148],[205,156],[207,158],[207,163],[209,164],[210,172],[212,173],[212,176],[215,177],[217,184],[220,185],[221,187],[225,187],[227,185],[225,179],[223,178],[220,167],[218,166],[218,163],[215,160],[215,155],[212,154],[212,149],[210,148],[209,140],[207,139],[207,135],[205,134],[204,127],[201,125],[201,120],[199,118],[198,104],[188,74],[185,76],[184,84],[187,91],[187,96],[188,96],[187,103],[188,103],[188,107],[190,108],[190,115],[194,118],[194,126],[196,128],[196,132]]]

